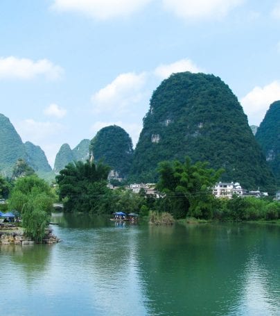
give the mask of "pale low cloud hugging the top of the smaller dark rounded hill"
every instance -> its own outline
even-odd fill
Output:
[[[106,126],[111,126],[111,125],[117,125],[121,126],[132,138],[132,142],[134,146],[137,144],[139,135],[142,129],[142,124],[137,124],[137,123],[125,123],[122,121],[116,121],[116,122],[95,122],[91,128],[90,131],[93,133],[93,138],[96,135],[98,131],[100,131],[101,128],[106,127]]]

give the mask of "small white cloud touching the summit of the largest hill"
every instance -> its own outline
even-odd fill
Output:
[[[175,63],[169,65],[159,65],[155,69],[155,75],[161,79],[168,78],[170,74],[175,74],[176,72],[202,72],[202,69],[199,69],[191,60],[182,59],[178,60]]]

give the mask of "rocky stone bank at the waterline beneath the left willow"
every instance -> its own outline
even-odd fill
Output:
[[[46,228],[42,244],[56,244],[60,239],[53,235],[51,228]],[[1,244],[35,244],[34,240],[24,235],[24,228],[16,224],[0,224],[0,245]]]

